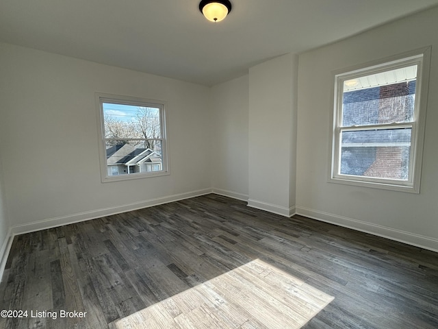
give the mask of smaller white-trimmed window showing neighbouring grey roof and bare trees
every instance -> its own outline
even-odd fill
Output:
[[[102,182],[168,174],[165,102],[96,94]]]

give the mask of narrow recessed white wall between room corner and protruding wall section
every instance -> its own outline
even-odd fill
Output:
[[[248,75],[211,88],[211,185],[248,199]]]

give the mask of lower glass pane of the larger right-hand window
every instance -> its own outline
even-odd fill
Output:
[[[407,180],[411,128],[342,132],[342,175]]]

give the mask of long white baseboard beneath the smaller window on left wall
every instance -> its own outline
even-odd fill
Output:
[[[44,219],[42,221],[34,221],[32,223],[25,223],[22,225],[12,226],[11,230],[13,235],[25,234],[29,232],[35,232],[38,230],[46,230],[47,228],[55,228],[57,226],[73,224],[79,221],[88,221],[89,219],[96,219],[99,217],[120,214],[121,212],[148,208],[151,206],[157,206],[159,204],[167,204],[168,202],[175,202],[182,199],[188,199],[190,197],[198,197],[200,195],[205,195],[209,193],[211,193],[211,188],[204,188],[201,190],[190,191],[186,193],[168,195],[166,197],[157,197],[155,199],[149,199],[146,201],[136,202],[133,204],[125,204],[122,206],[116,206],[112,208],[103,208],[98,210],[79,212],[73,215]]]

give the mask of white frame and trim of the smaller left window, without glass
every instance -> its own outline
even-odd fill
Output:
[[[118,182],[122,180],[136,180],[141,178],[151,178],[163,175],[170,175],[169,156],[168,156],[168,138],[166,137],[166,109],[167,102],[155,99],[143,99],[140,97],[111,95],[105,93],[96,93],[96,112],[97,112],[97,131],[99,135],[99,160],[101,166],[101,182]],[[159,140],[162,143],[162,171],[149,171],[142,173],[130,173],[127,175],[110,176],[107,172],[107,152],[105,141],[116,138],[105,138],[105,123],[103,116],[103,103],[114,103],[120,105],[140,106],[159,108],[161,138],[123,138],[129,141],[144,141],[149,139]]]

